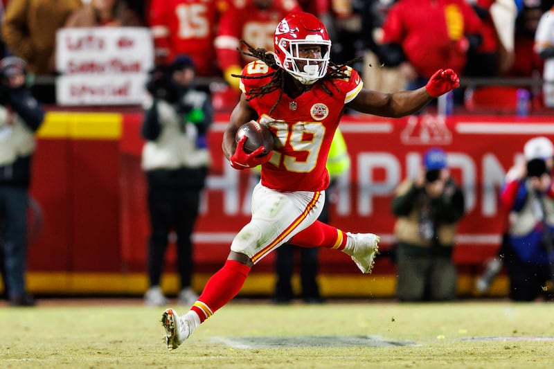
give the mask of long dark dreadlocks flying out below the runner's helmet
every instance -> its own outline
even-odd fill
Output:
[[[275,57],[274,57],[273,53],[267,51],[265,48],[254,48],[248,42],[244,41],[244,39],[241,39],[240,42],[242,42],[242,44],[244,44],[248,48],[248,52],[239,50],[240,53],[242,53],[244,55],[251,56],[251,57],[256,57],[256,59],[261,60],[262,62],[265,62],[265,64],[267,64],[268,66],[271,66],[271,68],[275,69],[275,71],[273,73],[269,74],[269,75],[271,75],[271,80],[269,80],[269,83],[264,84],[261,87],[254,87],[253,89],[251,89],[250,90],[250,95],[251,96],[249,98],[247,98],[247,100],[250,101],[253,98],[256,98],[258,96],[263,96],[266,93],[270,93],[270,92],[275,91],[276,89],[280,89],[278,99],[276,100],[274,106],[271,107],[271,110],[269,110],[269,115],[271,115],[271,113],[274,111],[274,109],[279,104],[281,98],[283,97],[283,92],[285,91],[285,75],[286,75],[287,71],[285,71],[285,69],[283,69],[283,68],[280,68],[276,64]],[[354,64],[355,62],[357,62],[359,60],[361,60],[361,57],[356,57],[355,59],[349,60],[348,62],[346,62],[344,64],[334,64],[333,62],[330,61],[329,62],[329,70],[327,71],[325,76],[323,78],[321,78],[321,80],[328,80],[330,82],[330,84],[332,85],[332,87],[334,87],[334,89],[337,90],[337,92],[340,91],[339,88],[334,84],[333,80],[335,80],[337,78],[339,78],[339,79],[340,78],[348,78],[348,74],[345,72],[346,66],[352,66],[352,64]],[[235,78],[245,78],[245,79],[260,79],[260,78],[266,78],[267,77],[267,75],[255,75],[255,76],[253,76],[253,75],[235,75],[235,74],[231,74],[231,75]],[[330,89],[328,89],[328,87],[325,83],[321,84],[321,87],[323,87],[325,92],[327,92],[330,96],[333,95],[332,91],[330,91]]]

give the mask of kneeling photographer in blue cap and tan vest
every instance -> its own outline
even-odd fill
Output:
[[[400,183],[392,201],[397,217],[396,296],[401,301],[454,300],[452,251],[465,211],[464,195],[450,176],[443,150],[431,148],[423,162],[418,177]]]

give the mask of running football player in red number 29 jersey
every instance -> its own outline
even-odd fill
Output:
[[[235,236],[224,266],[208,280],[190,310],[183,316],[171,308],[163,313],[169,350],[238,294],[254,264],[287,242],[340,250],[363,273],[370,273],[379,236],[344,232],[316,220],[329,185],[325,162],[344,109],[406,116],[460,82],[452,69],[440,69],[414,91],[366,90],[350,66],[330,64],[330,47],[319,19],[293,12],[278,24],[273,52],[249,49],[258,60],[242,70],[242,96],[231,113],[222,149],[235,169],[262,165],[260,183],[252,193],[251,221]],[[262,157],[258,155],[263,147],[247,154],[244,138],[235,142],[238,128],[253,119],[267,124],[276,136],[273,152]]]

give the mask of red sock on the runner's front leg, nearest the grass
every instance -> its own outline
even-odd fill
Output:
[[[250,267],[242,262],[226,260],[222,269],[208,280],[197,302],[190,308],[198,314],[200,323],[238,294],[249,271]]]

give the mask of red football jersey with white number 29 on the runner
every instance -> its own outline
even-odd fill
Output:
[[[260,78],[241,78],[240,89],[250,98],[253,89],[269,83],[272,72],[274,69],[264,62],[250,62],[242,69],[242,75]],[[262,165],[262,185],[283,191],[320,191],[328,187],[325,163],[334,131],[344,105],[353,100],[364,85],[357,71],[347,67],[346,73],[349,77],[333,80],[334,86],[320,80],[297,98],[285,93],[279,97],[280,90],[276,90],[249,101],[260,116],[260,122],[271,120],[268,127],[278,138],[271,160]],[[323,89],[323,84],[327,84],[332,96]],[[269,116],[279,98],[280,102]]]

